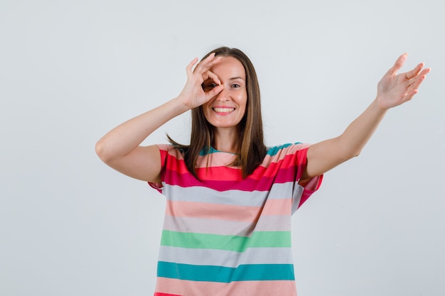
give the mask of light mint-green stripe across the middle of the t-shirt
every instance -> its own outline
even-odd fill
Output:
[[[161,246],[235,252],[244,252],[247,248],[290,248],[291,231],[255,231],[252,236],[246,237],[163,230]]]

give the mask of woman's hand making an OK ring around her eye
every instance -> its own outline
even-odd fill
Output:
[[[215,57],[215,53],[212,53],[204,60],[196,65],[193,70],[193,66],[198,62],[198,57],[195,57],[190,64],[188,64],[187,70],[187,82],[186,86],[183,88],[181,94],[179,94],[178,99],[183,102],[183,104],[188,109],[196,108],[210,99],[219,94],[224,86],[221,85],[221,82],[215,73],[210,71],[210,68],[213,67],[216,63],[221,60],[221,57]],[[205,92],[202,84],[206,80],[213,80],[216,87],[213,87],[208,92]]]

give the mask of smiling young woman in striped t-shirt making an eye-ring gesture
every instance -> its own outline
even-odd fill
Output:
[[[360,153],[387,109],[417,93],[429,69],[397,75],[406,58],[340,136],[311,146],[264,145],[257,75],[236,48],[217,48],[196,66],[195,58],[178,97],[101,138],[104,163],[166,196],[155,296],[295,296],[291,214],[324,172]],[[139,146],[188,110],[190,145]]]

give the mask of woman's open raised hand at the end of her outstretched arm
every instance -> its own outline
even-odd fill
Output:
[[[377,84],[377,104],[382,109],[390,109],[399,106],[412,99],[417,89],[424,81],[431,69],[424,68],[424,63],[420,63],[413,70],[397,74],[402,68],[407,53],[400,55],[394,66],[382,77]]]

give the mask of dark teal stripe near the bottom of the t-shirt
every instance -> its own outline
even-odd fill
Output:
[[[250,264],[237,268],[158,262],[158,277],[230,283],[243,280],[294,280],[292,264]]]

